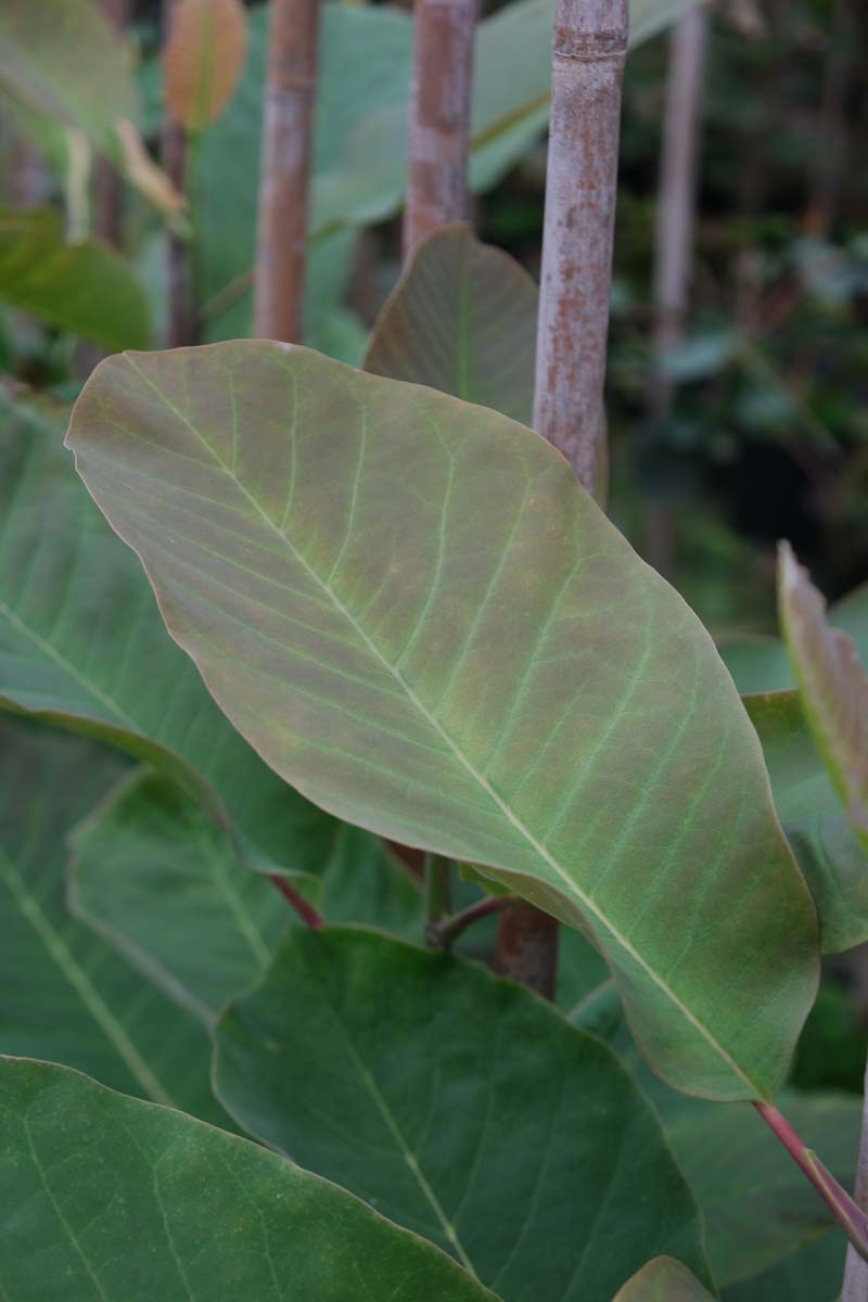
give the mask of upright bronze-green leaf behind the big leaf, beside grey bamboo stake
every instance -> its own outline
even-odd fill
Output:
[[[468,225],[423,240],[383,309],[364,370],[531,423],[536,285]]]

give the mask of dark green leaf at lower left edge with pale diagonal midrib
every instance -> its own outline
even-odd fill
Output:
[[[207,1035],[66,910],[66,833],[120,769],[92,742],[0,724],[0,1052],[217,1118]]]

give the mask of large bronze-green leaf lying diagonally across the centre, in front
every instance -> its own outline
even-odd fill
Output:
[[[254,341],[107,359],[69,443],[268,763],[588,928],[669,1079],[770,1094],[817,947],[756,734],[553,448]]]

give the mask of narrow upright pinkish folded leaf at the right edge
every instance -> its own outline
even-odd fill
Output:
[[[825,602],[789,543],[778,561],[781,625],[806,717],[868,850],[868,677],[852,641],[828,624]]]

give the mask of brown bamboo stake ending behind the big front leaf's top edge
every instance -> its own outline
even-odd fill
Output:
[[[302,337],[319,0],[272,0],[265,79],[254,333]]]

